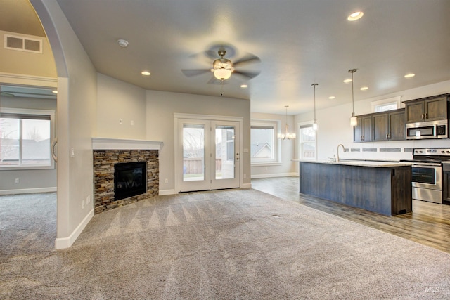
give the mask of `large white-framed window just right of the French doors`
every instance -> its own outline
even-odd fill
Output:
[[[252,122],[250,127],[250,159],[252,164],[278,162],[276,121]]]

